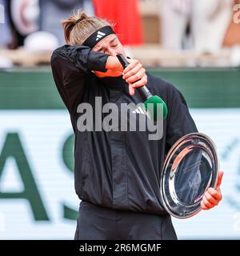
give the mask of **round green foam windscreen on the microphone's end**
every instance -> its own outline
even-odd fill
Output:
[[[162,118],[162,117],[158,116],[158,111],[157,111],[158,103],[161,104],[160,107],[162,108],[163,119],[165,119],[166,115],[167,115],[167,106],[166,106],[165,102],[163,102],[162,98],[158,97],[157,95],[154,95],[154,96],[148,98],[146,100],[146,102],[143,102],[143,106],[145,106],[147,114],[154,121],[158,121],[158,119]],[[147,107],[147,104],[150,104],[150,106]]]

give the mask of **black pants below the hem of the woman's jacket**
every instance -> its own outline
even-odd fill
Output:
[[[113,210],[80,202],[75,240],[177,239],[170,215]]]

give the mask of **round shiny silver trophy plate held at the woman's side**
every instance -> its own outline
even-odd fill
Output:
[[[218,154],[206,134],[180,138],[166,156],[161,177],[162,204],[176,218],[201,210],[202,195],[218,182]]]

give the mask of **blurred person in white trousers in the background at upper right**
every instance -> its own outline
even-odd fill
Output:
[[[218,52],[229,25],[233,0],[160,0],[162,46]],[[190,37],[186,38],[186,28]],[[171,32],[171,33],[170,33]]]

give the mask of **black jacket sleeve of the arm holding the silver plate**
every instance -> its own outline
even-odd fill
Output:
[[[185,98],[174,86],[171,86],[169,113],[166,124],[166,154],[171,146],[186,134],[198,132],[190,115]]]

